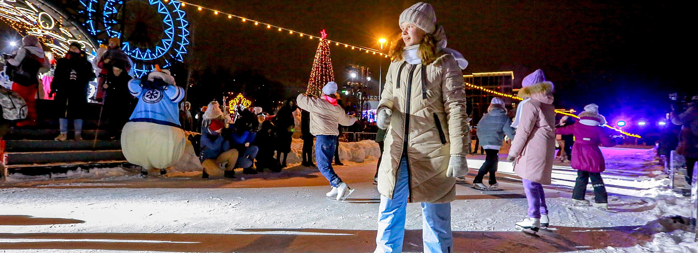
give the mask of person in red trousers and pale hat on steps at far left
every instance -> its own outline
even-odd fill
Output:
[[[13,66],[10,72],[12,90],[24,98],[27,103],[27,118],[17,122],[18,127],[36,125],[36,98],[38,97],[38,72],[40,68],[50,68],[39,39],[28,35],[22,38],[22,47],[17,49],[17,55],[8,59],[7,63]]]

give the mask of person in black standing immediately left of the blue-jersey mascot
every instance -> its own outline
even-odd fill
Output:
[[[133,77],[126,72],[125,64],[119,59],[112,61],[112,71],[102,84],[105,91],[103,115],[108,116],[107,130],[110,139],[118,139],[119,131],[124,128],[133,113],[133,96],[128,93],[128,81]]]

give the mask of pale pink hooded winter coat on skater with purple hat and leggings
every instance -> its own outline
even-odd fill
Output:
[[[531,99],[521,105],[519,128],[509,155],[516,158],[514,172],[518,176],[549,185],[555,158],[555,107],[553,100],[544,94],[552,90],[552,85],[548,88],[547,84],[539,83],[526,88],[521,91],[540,93],[523,95],[523,98]]]

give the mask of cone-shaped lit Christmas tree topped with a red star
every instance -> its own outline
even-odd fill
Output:
[[[323,29],[320,34],[322,34],[322,39],[320,39],[318,50],[315,51],[313,69],[310,72],[310,81],[306,91],[306,94],[315,96],[322,95],[322,87],[328,82],[334,81],[332,59],[329,58],[329,41],[325,40],[327,33]]]

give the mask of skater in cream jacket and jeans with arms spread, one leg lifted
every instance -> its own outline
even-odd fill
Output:
[[[332,190],[327,192],[327,197],[336,197],[342,200],[349,190],[349,185],[344,183],[332,168],[332,158],[336,149],[336,139],[339,135],[339,125],[353,125],[356,118],[348,116],[337,103],[336,82],[328,82],[322,87],[322,98],[309,97],[299,94],[296,99],[298,107],[310,112],[310,132],[315,135],[315,162],[322,176],[327,178]]]

